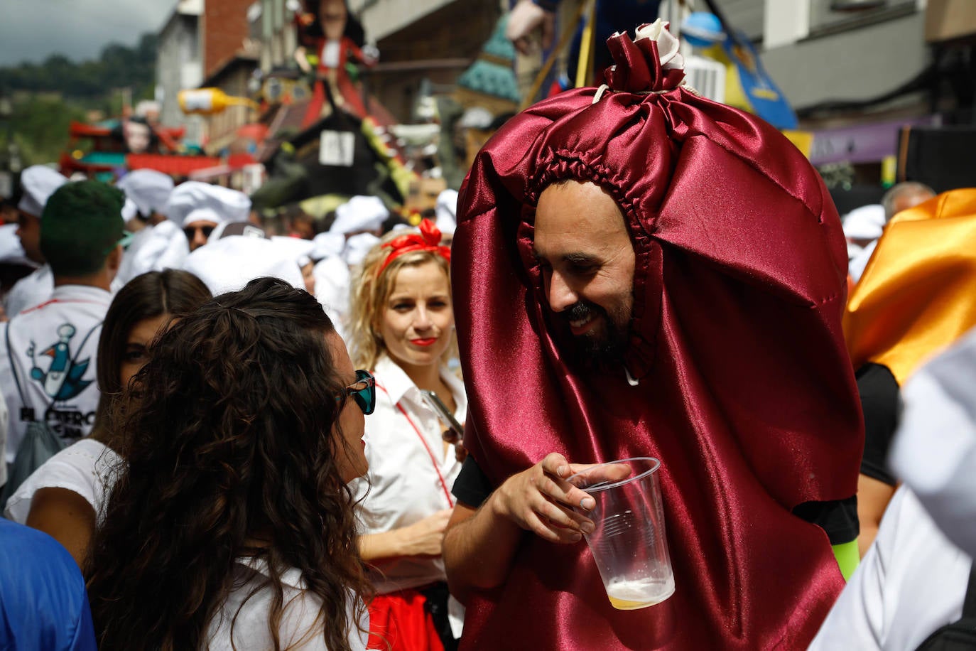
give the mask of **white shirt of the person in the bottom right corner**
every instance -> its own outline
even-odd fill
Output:
[[[971,564],[902,486],[809,648],[914,650],[961,616]]]

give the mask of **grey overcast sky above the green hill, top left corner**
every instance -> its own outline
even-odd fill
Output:
[[[158,32],[177,0],[0,0],[0,65],[53,54],[97,59],[116,42],[132,46]]]

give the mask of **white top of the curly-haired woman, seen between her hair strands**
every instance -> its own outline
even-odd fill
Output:
[[[210,651],[231,651],[230,623],[233,622],[233,641],[237,649],[269,649],[271,633],[267,625],[267,614],[271,605],[273,591],[264,587],[248,598],[252,590],[258,587],[267,576],[267,564],[264,560],[254,558],[238,558],[233,569],[233,588],[227,600],[211,620],[208,629]],[[297,568],[289,568],[281,575],[282,603],[281,624],[278,627],[278,639],[281,647],[290,647],[297,642],[304,642],[290,648],[302,651],[328,651],[322,636],[322,622],[318,620],[321,600],[315,594],[305,590],[305,580]],[[354,622],[354,607],[357,597],[350,592],[348,599],[347,617]],[[240,611],[238,613],[238,610]],[[237,620],[234,621],[234,616]],[[369,631],[369,614],[363,613],[360,622],[363,631]],[[349,647],[354,651],[365,649],[368,634],[357,630],[354,626],[348,633]]]

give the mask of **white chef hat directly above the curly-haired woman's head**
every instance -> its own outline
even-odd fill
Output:
[[[183,261],[214,296],[243,289],[255,278],[274,276],[293,287],[305,289],[299,265],[283,249],[262,237],[228,235],[211,240]]]

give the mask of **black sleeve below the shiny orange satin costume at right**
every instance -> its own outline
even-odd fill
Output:
[[[895,486],[897,479],[888,468],[888,449],[898,427],[900,392],[887,366],[868,363],[857,370],[858,393],[864,410],[864,457],[861,474]]]

